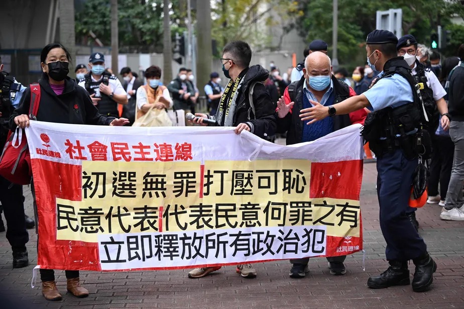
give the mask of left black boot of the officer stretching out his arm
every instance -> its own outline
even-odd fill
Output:
[[[393,285],[408,285],[409,270],[406,261],[389,261],[390,267],[378,276],[370,277],[370,288],[386,288]]]

